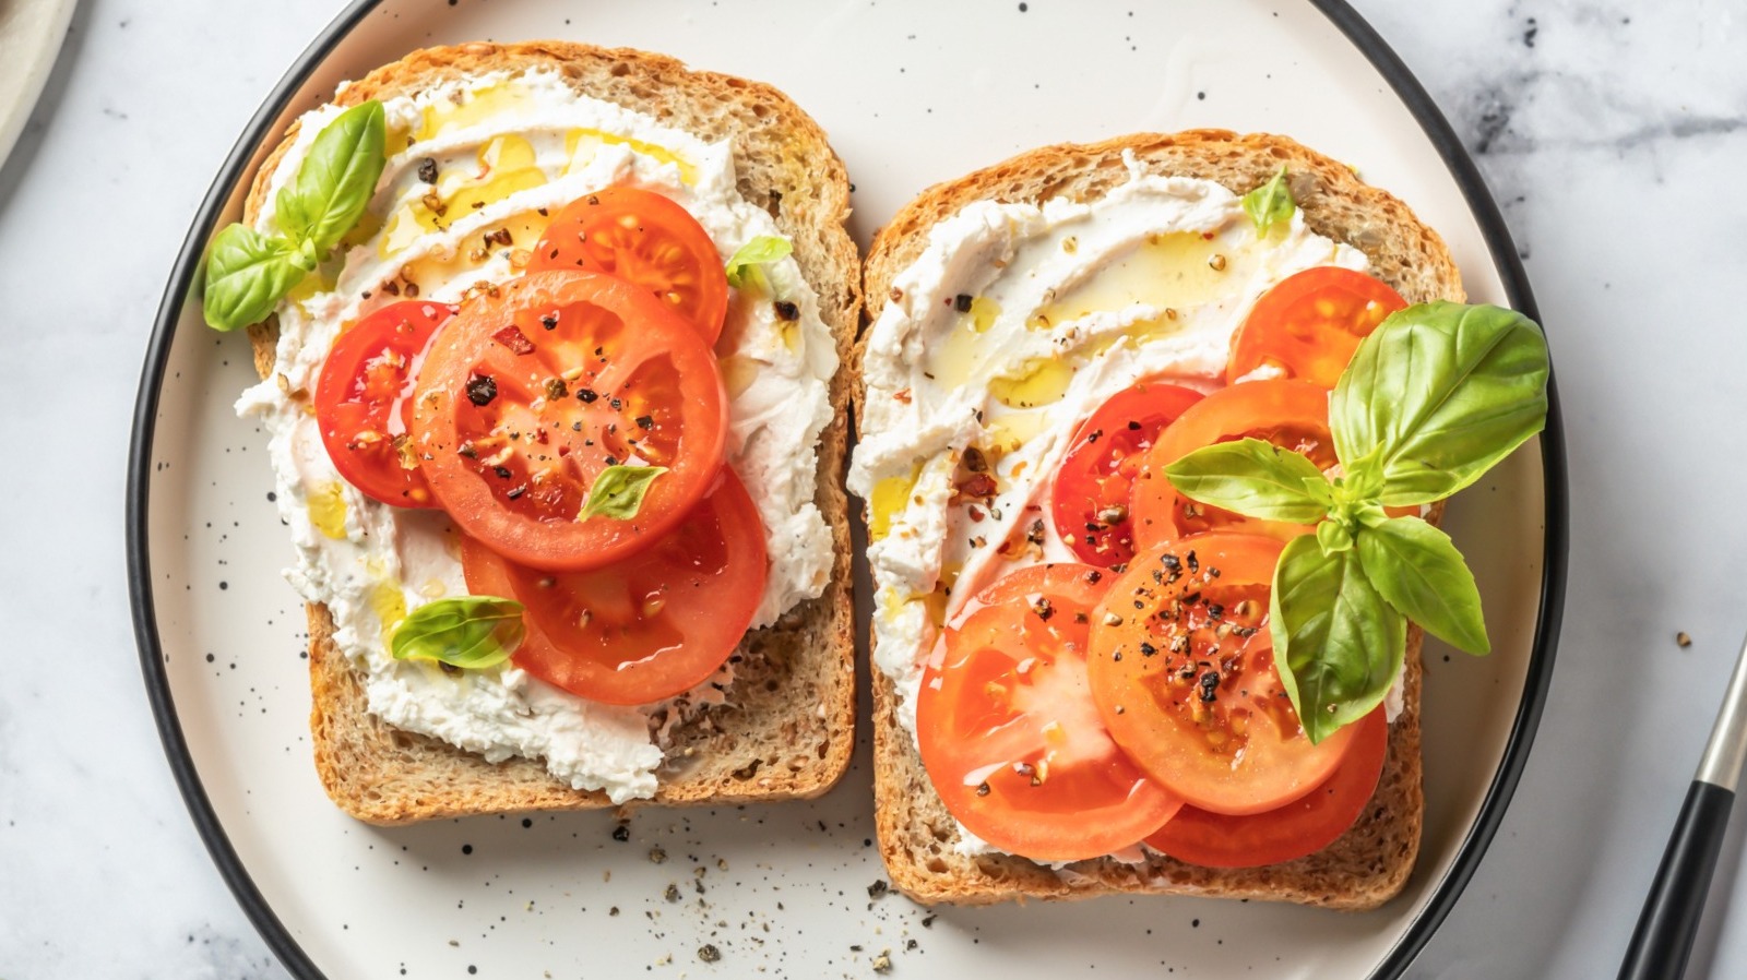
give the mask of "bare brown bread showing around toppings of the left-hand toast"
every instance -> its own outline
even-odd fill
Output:
[[[849,363],[861,314],[860,253],[844,220],[849,180],[825,131],[777,89],[631,49],[568,42],[437,47],[370,72],[335,103],[393,98],[487,72],[554,68],[578,93],[618,103],[706,141],[732,141],[739,192],[772,215],[795,245],[819,313]],[[273,150],[245,206],[253,220],[297,126]],[[250,330],[255,367],[273,372],[276,327]],[[844,482],[847,370],[832,381],[835,421],[819,437],[814,501],[832,528],[833,566],[825,594],[749,632],[735,655],[728,702],[671,730],[657,804],[737,804],[816,797],[849,765],[854,744],[854,629]],[[332,643],[327,608],[311,604],[309,727],[316,772],[348,814],[397,825],[508,811],[611,805],[604,793],[556,781],[540,760],[498,765],[438,739],[383,723],[367,707],[362,674]]]

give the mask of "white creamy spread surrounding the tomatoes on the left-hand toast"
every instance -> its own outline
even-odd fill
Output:
[[[678,699],[617,707],[557,690],[514,666],[451,674],[393,660],[386,639],[412,608],[465,594],[456,531],[440,512],[377,503],[339,477],[309,395],[344,325],[402,299],[461,302],[519,274],[550,217],[610,185],[673,197],[709,232],[722,259],[781,234],[735,190],[727,141],[706,143],[624,107],[577,94],[552,72],[491,73],[384,101],[388,166],[360,227],[320,274],[278,307],[274,376],[238,402],[269,433],[280,515],[297,561],[287,578],[334,618],[334,643],[365,676],[370,711],[489,762],[543,758],[577,790],[615,804],[655,793],[662,735],[681,716],[732,697],[732,669]],[[273,232],[278,190],[316,133],[339,115],[302,117],[280,161],[257,231]],[[503,236],[487,232],[508,232]],[[758,505],[770,556],[753,627],[818,596],[832,535],[812,503],[818,440],[832,421],[837,346],[818,295],[793,259],[763,267],[776,295],[800,309],[781,321],[769,297],[735,295],[716,344],[730,395],[728,465]]]

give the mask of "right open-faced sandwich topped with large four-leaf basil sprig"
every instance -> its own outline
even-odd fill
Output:
[[[858,348],[877,826],[922,901],[1373,907],[1419,847],[1422,627],[1485,652],[1441,500],[1546,348],[1291,140],[1034,150],[875,239]]]

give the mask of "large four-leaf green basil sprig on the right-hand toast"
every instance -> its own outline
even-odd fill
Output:
[[[1366,337],[1329,398],[1329,480],[1256,438],[1209,445],[1165,475],[1202,503],[1309,524],[1274,569],[1274,660],[1305,734],[1375,709],[1401,671],[1406,622],[1487,653],[1480,590],[1450,536],[1384,507],[1441,500],[1546,424],[1546,339],[1495,306],[1410,306]]]

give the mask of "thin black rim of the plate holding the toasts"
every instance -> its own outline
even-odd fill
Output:
[[[241,180],[245,168],[255,148],[266,141],[274,121],[285,112],[292,98],[304,86],[311,73],[328,54],[381,3],[383,0],[355,0],[304,49],[297,61],[285,72],[273,87],[260,108],[243,128],[241,136],[218,168],[206,197],[201,201],[189,225],[189,234],[182,245],[176,262],[171,267],[164,297],[159,302],[152,325],[152,337],[147,346],[145,365],[140,374],[140,391],[135,400],[133,433],[128,456],[126,480],[126,540],[128,540],[128,590],[133,604],[133,631],[140,650],[140,667],[145,680],[147,699],[157,725],[159,739],[164,744],[169,769],[176,777],[189,816],[206,844],[218,873],[236,896],[243,914],[248,915],[262,940],[280,959],[285,970],[297,980],[325,980],[309,956],[302,950],[290,929],[280,921],[266,896],[255,886],[231,845],[218,814],[201,784],[194,758],[189,753],[182,723],[176,718],[175,697],[169,690],[169,674],[164,669],[162,643],[157,634],[157,610],[152,594],[152,562],[148,552],[148,508],[150,508],[150,466],[152,442],[155,435],[159,393],[169,363],[169,351],[182,320],[182,307],[189,295],[204,252],[204,243],[211,229],[218,224],[218,215],[227,206],[232,189]],[[1523,271],[1516,245],[1511,239],[1504,217],[1499,211],[1492,192],[1487,189],[1473,157],[1462,147],[1460,138],[1443,117],[1443,112],[1413,77],[1401,58],[1387,42],[1361,17],[1345,0],[1310,0],[1329,23],[1333,23],[1354,47],[1377,68],[1389,82],[1396,96],[1408,108],[1433,147],[1443,157],[1452,178],[1467,201],[1469,211],[1480,225],[1481,238],[1497,266],[1506,297],[1511,306],[1539,321],[1534,292],[1529,288],[1529,276]],[[1438,926],[1443,924],[1450,908],[1455,907],[1480,859],[1485,856],[1511,795],[1522,777],[1534,742],[1536,727],[1541,721],[1541,709],[1546,704],[1548,685],[1553,676],[1553,653],[1558,646],[1558,631],[1564,618],[1565,603],[1565,561],[1569,550],[1569,514],[1567,514],[1567,472],[1565,472],[1565,435],[1558,405],[1558,390],[1548,383],[1548,419],[1541,433],[1541,468],[1544,486],[1546,531],[1541,571],[1541,596],[1537,606],[1536,636],[1529,655],[1529,671],[1523,678],[1523,695],[1511,723],[1511,734],[1504,746],[1504,758],[1492,777],[1492,784],[1480,805],[1480,816],[1469,828],[1467,837],[1457,849],[1457,856],[1438,882],[1431,900],[1419,917],[1401,935],[1384,961],[1371,971],[1371,980],[1396,980],[1413,963],[1419,952],[1431,940]]]

